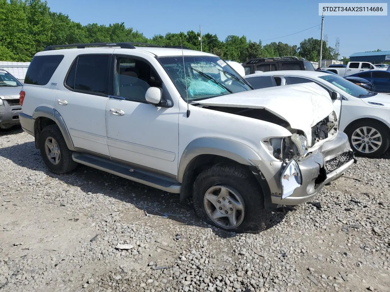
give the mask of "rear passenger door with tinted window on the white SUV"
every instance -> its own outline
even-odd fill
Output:
[[[61,85],[64,89],[55,97],[55,109],[64,119],[74,147],[107,156],[105,108],[111,56],[78,56]]]

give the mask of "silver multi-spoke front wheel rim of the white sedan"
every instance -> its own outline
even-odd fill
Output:
[[[375,128],[360,127],[353,132],[351,142],[359,152],[372,153],[382,145],[382,135]]]

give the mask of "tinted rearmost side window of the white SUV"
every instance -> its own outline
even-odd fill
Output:
[[[64,55],[35,56],[28,66],[25,84],[46,85],[49,83]]]

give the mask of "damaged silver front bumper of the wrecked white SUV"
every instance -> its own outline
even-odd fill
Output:
[[[271,192],[273,204],[298,205],[309,201],[323,186],[344,174],[356,159],[349,146],[348,137],[339,132],[332,141],[298,161],[302,175],[302,184],[294,192],[282,199],[280,176],[285,168],[284,162],[252,160],[261,172],[260,179],[265,179]],[[328,162],[328,165],[327,165]]]

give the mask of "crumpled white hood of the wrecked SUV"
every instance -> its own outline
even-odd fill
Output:
[[[205,106],[266,109],[287,121],[291,128],[303,130],[311,139],[311,128],[333,112],[329,93],[315,83],[292,84],[242,91],[199,100]]]

